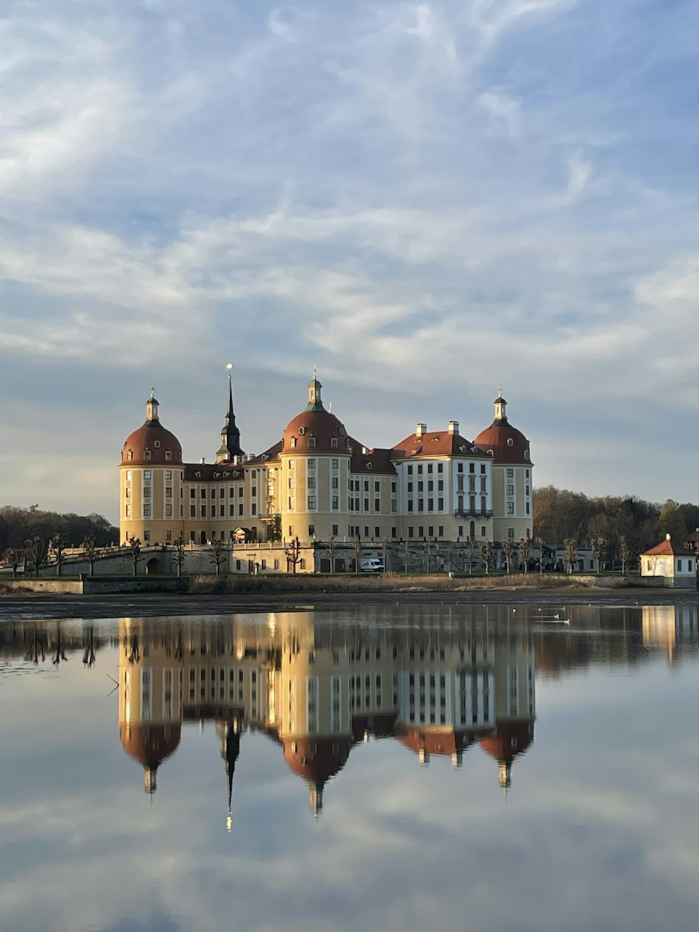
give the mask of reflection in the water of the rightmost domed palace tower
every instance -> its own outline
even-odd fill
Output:
[[[495,732],[480,745],[498,761],[500,787],[507,793],[514,759],[534,740],[534,650],[521,628],[496,642],[495,719]]]

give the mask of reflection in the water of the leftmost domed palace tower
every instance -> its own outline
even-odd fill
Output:
[[[145,792],[153,794],[159,765],[180,743],[181,672],[164,648],[142,643],[140,625],[121,625],[119,738],[143,765]]]

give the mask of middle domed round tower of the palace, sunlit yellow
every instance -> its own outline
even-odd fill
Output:
[[[339,516],[349,511],[351,441],[340,420],[325,410],[321,390],[314,373],[308,404],[286,425],[281,442],[281,533],[302,544],[329,540]]]

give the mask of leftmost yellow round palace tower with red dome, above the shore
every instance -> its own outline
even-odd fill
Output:
[[[132,538],[144,544],[176,541],[183,533],[182,446],[160,423],[153,391],[145,403],[144,424],[121,448],[119,473],[121,543]]]

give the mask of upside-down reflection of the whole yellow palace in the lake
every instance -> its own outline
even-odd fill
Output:
[[[264,732],[308,784],[316,813],[327,781],[370,736],[455,767],[479,744],[498,762],[502,788],[533,740],[525,625],[348,628],[314,624],[313,612],[220,621],[120,623],[119,733],[149,793],[188,720],[215,722],[229,795],[240,734]]]

